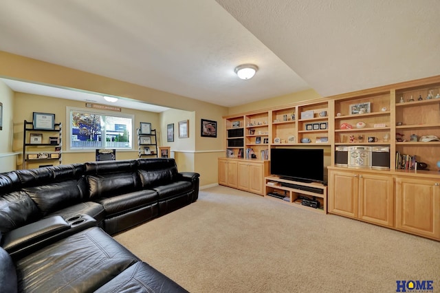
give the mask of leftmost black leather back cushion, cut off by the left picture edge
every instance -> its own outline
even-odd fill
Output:
[[[34,201],[24,191],[14,191],[0,197],[0,232],[5,233],[41,217]]]

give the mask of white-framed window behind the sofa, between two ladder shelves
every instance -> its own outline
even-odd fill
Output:
[[[70,150],[133,149],[132,115],[68,108]]]

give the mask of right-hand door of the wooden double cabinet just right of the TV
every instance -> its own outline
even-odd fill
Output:
[[[359,177],[359,219],[393,227],[393,177],[370,173],[360,173]]]

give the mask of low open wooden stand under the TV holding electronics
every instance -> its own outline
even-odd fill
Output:
[[[271,175],[265,177],[265,187],[267,198],[327,214],[327,186],[321,182],[295,181]],[[284,197],[275,195],[284,195]],[[317,202],[319,204],[316,204]]]

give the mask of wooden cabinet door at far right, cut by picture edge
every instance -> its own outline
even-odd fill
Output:
[[[396,179],[395,227],[440,239],[440,187],[438,180]]]

